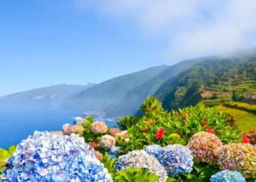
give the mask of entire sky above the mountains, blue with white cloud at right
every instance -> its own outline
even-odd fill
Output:
[[[256,46],[255,0],[1,0],[0,96]]]

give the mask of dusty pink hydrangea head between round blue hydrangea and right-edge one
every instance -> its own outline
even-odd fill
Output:
[[[187,146],[196,162],[216,163],[222,142],[212,133],[197,132],[192,135]]]

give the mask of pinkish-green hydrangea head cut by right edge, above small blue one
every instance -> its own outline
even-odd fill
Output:
[[[246,143],[229,143],[219,150],[222,170],[236,170],[245,178],[256,178],[256,148]]]

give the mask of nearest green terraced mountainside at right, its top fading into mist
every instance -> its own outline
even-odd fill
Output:
[[[165,81],[154,93],[163,108],[177,109],[195,106],[200,100],[228,99],[228,82],[230,76],[233,87],[233,99],[241,101],[244,92],[255,92],[256,49],[228,52],[201,58],[191,68]]]

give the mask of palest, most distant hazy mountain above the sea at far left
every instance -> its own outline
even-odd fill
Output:
[[[68,95],[86,90],[94,85],[94,83],[89,83],[86,86],[58,84],[16,92],[0,97],[0,108],[58,108]]]

